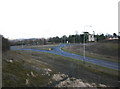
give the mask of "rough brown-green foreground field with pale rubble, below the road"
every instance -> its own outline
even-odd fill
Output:
[[[83,65],[80,61],[55,54],[8,51],[3,53],[2,59],[3,87],[118,86],[117,71],[111,70],[116,72],[114,75],[99,66]]]

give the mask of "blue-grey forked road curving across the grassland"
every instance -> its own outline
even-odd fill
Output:
[[[82,44],[75,44],[75,45],[82,45]],[[83,56],[68,53],[68,52],[61,50],[61,48],[64,46],[69,46],[69,44],[61,44],[60,46],[52,47],[52,50],[50,50],[50,51],[49,50],[37,50],[37,49],[24,49],[24,48],[17,49],[14,47],[11,47],[11,49],[12,50],[31,50],[31,51],[47,52],[47,53],[53,53],[53,54],[57,54],[57,55],[61,55],[61,56],[65,56],[65,57],[69,57],[69,58],[83,61]],[[96,65],[107,67],[110,69],[120,70],[120,65],[118,65],[118,63],[115,63],[115,62],[95,59],[95,58],[91,58],[91,57],[86,57],[85,61],[88,63],[96,64]]]

